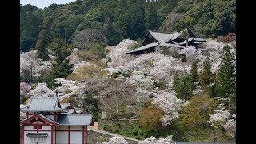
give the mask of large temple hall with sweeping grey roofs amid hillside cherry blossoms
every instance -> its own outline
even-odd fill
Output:
[[[161,46],[186,48],[187,45],[198,47],[202,42],[206,42],[206,39],[197,38],[190,30],[188,30],[188,38],[182,38],[181,36],[182,33],[178,32],[167,34],[150,30],[149,33],[146,34],[146,38],[144,38],[142,45],[137,49],[126,52],[126,54],[145,54],[159,50],[159,47]]]

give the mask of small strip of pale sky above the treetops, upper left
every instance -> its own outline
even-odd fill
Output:
[[[45,6],[50,6],[50,4],[65,4],[69,2],[73,2],[75,0],[20,0],[22,5],[30,4],[37,6],[38,8],[44,8]]]

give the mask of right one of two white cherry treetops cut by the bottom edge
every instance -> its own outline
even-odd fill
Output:
[[[154,138],[154,137],[150,137],[150,138],[146,138],[145,140],[143,140],[142,142],[139,142],[139,144],[172,144],[172,136],[168,136],[166,138]]]

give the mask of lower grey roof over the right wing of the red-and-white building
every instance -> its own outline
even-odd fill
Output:
[[[93,123],[92,114],[60,114],[57,122],[66,126],[89,126]]]

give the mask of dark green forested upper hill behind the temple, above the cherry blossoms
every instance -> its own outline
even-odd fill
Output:
[[[235,0],[77,0],[44,9],[21,5],[20,50],[40,49],[53,38],[64,38],[75,46],[88,38],[78,48],[95,42],[116,45],[126,38],[142,39],[148,30],[170,32],[185,27],[216,38],[235,32],[235,11]]]

